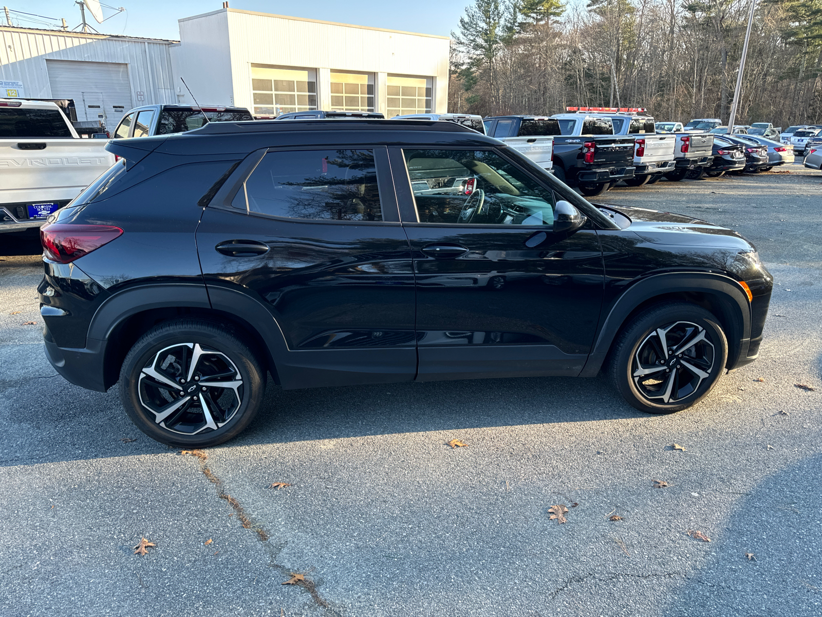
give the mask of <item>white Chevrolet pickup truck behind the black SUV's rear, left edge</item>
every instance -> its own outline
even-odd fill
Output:
[[[81,139],[56,104],[0,99],[0,233],[43,225],[114,164],[104,139]]]

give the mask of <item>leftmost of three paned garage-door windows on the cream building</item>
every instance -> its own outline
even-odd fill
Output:
[[[252,64],[252,96],[256,116],[316,109],[316,72]]]

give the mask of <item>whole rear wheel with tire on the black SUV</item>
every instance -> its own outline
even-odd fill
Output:
[[[169,385],[181,378],[179,391],[172,391]],[[217,383],[226,387],[208,385]],[[202,319],[152,328],[120,369],[128,417],[150,438],[177,448],[206,448],[236,437],[260,410],[265,391],[266,372],[252,350],[228,328]]]

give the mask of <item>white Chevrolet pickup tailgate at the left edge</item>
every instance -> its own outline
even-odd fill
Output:
[[[76,197],[114,164],[104,139],[0,139],[0,203]]]

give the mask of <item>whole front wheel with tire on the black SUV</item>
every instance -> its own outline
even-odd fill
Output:
[[[660,331],[667,345],[660,346]],[[685,346],[683,355],[676,351],[668,355],[677,346]],[[696,304],[667,302],[648,308],[623,328],[612,347],[607,373],[631,406],[650,414],[669,414],[706,397],[726,360],[727,339],[713,313]]]

